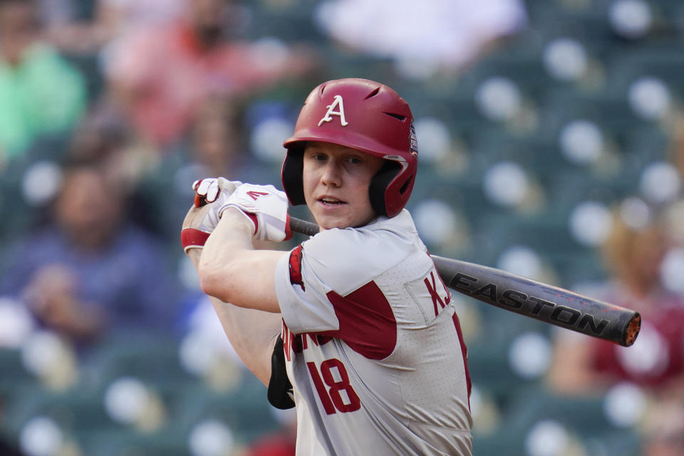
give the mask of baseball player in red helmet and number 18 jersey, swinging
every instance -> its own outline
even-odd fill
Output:
[[[380,83],[328,81],[284,146],[285,192],[196,182],[208,204],[182,239],[271,403],[292,405],[291,383],[297,455],[471,455],[460,323],[403,209],[418,167],[408,104]],[[288,201],[321,232],[290,252],[253,249],[289,236]]]

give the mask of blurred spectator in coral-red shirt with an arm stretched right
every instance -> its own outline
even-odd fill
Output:
[[[227,38],[233,1],[195,0],[182,20],[123,36],[105,63],[110,94],[143,138],[167,146],[199,105],[247,95],[311,68],[308,54],[279,43]]]

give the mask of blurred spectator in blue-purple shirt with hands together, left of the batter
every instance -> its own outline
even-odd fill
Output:
[[[51,222],[4,259],[0,294],[73,341],[105,331],[172,331],[175,282],[149,234],[125,218],[125,194],[90,162],[64,170]]]

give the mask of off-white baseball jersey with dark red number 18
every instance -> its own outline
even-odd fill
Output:
[[[298,456],[472,454],[460,323],[407,210],[316,234],[276,294]]]

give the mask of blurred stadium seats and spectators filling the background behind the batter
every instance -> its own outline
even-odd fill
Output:
[[[475,455],[684,455],[683,75],[679,0],[0,0],[0,454],[294,455],[180,224],[362,77],[413,109],[430,252],[643,315],[620,348],[454,293]]]

